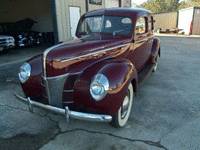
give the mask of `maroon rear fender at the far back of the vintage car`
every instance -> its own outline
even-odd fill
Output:
[[[160,57],[160,39],[155,37],[151,49],[150,62],[155,62],[158,55]]]

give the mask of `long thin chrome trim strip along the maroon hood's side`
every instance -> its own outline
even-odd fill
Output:
[[[75,59],[79,59],[79,58],[83,58],[83,57],[87,57],[87,56],[91,56],[91,55],[97,55],[99,53],[107,52],[107,51],[110,51],[110,50],[113,50],[113,49],[116,49],[116,48],[120,48],[120,47],[123,47],[123,46],[128,46],[128,45],[131,45],[131,44],[128,43],[128,44],[115,46],[115,47],[112,47],[112,48],[107,48],[105,50],[101,50],[101,51],[98,51],[98,52],[93,52],[93,53],[89,53],[89,54],[86,54],[86,55],[82,55],[82,56],[78,56],[78,57],[62,60],[61,62],[67,62],[67,61],[71,61],[71,60],[75,60]]]

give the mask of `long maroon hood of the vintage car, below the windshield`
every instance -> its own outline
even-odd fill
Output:
[[[44,52],[45,76],[62,75],[76,70],[75,68],[83,63],[92,65],[102,59],[116,57],[125,52],[124,46],[127,49],[129,45],[129,39],[121,37],[113,39],[111,35],[100,34],[92,34],[59,44]]]

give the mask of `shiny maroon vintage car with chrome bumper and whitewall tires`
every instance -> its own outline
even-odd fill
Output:
[[[66,119],[123,127],[134,92],[157,68],[160,40],[145,9],[114,8],[84,14],[77,39],[25,62],[19,79],[30,111],[39,107]]]

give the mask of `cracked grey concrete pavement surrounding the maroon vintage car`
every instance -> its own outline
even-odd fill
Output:
[[[200,39],[159,38],[157,71],[134,97],[128,123],[120,129],[73,119],[67,124],[63,116],[41,109],[30,113],[13,95],[22,93],[17,73],[45,46],[0,55],[0,149],[199,149]]]

